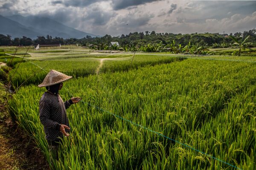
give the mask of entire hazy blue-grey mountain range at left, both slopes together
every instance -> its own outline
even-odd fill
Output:
[[[9,17],[0,16],[0,34],[9,34],[14,37],[30,37],[36,39],[37,36],[62,37],[62,38],[83,38],[87,35],[100,37],[83,31],[65,26],[47,17],[13,15]]]

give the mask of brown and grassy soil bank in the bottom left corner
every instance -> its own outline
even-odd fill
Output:
[[[43,154],[10,118],[0,82],[0,170],[49,170]]]

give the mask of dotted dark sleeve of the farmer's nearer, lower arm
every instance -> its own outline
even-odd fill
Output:
[[[50,105],[41,99],[39,102],[40,121],[46,128],[60,130],[61,124],[50,119]]]

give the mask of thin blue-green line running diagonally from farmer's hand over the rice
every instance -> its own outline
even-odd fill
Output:
[[[200,151],[200,150],[197,150],[197,149],[195,149],[194,147],[191,147],[191,146],[189,146],[189,145],[187,145],[187,144],[181,143],[181,142],[179,142],[179,141],[177,141],[177,140],[175,140],[175,139],[169,138],[168,136],[164,136],[163,134],[161,134],[161,133],[159,133],[159,132],[156,132],[156,131],[151,130],[151,129],[147,128],[147,127],[144,127],[144,126],[142,126],[142,125],[139,125],[139,124],[137,124],[137,123],[135,123],[135,122],[132,122],[131,120],[125,119],[125,118],[123,118],[122,116],[116,115],[116,114],[114,114],[114,113],[111,113],[110,111],[107,111],[107,110],[103,109],[103,108],[100,108],[100,107],[98,107],[98,106],[92,105],[92,104],[87,103],[87,102],[84,102],[83,100],[81,100],[81,102],[84,103],[84,104],[86,104],[86,105],[89,105],[89,106],[91,106],[91,107],[93,107],[93,108],[96,108],[96,109],[99,110],[99,111],[102,111],[102,112],[111,114],[111,115],[113,115],[113,116],[115,116],[115,117],[117,117],[117,118],[119,118],[119,119],[121,119],[121,120],[123,120],[123,121],[125,121],[125,122],[129,122],[129,123],[131,123],[131,124],[133,124],[133,125],[135,125],[135,126],[137,126],[137,127],[141,127],[141,128],[143,128],[143,129],[145,129],[145,130],[151,132],[151,133],[155,133],[155,134],[157,134],[157,135],[159,135],[159,136],[162,136],[162,137],[164,137],[164,138],[166,138],[166,139],[169,139],[169,140],[171,140],[171,141],[173,141],[173,142],[175,142],[175,143],[177,143],[177,144],[181,144],[181,145],[184,146],[184,147],[188,147],[188,148],[191,149],[191,150],[195,150],[195,151],[198,152],[198,153],[202,153],[203,155],[208,156],[209,158],[215,159],[216,161],[219,161],[219,162],[224,163],[224,164],[227,164],[227,165],[229,165],[229,166],[231,166],[231,167],[233,167],[233,168],[236,168],[236,169],[238,169],[238,170],[241,170],[241,168],[236,167],[236,166],[233,165],[233,164],[230,164],[230,163],[228,163],[228,162],[226,162],[226,161],[223,161],[223,160],[218,159],[218,158],[216,158],[216,157],[214,157],[214,156],[211,156],[211,155],[209,155],[209,154],[207,154],[207,153],[204,153],[204,152],[202,152],[202,151]]]

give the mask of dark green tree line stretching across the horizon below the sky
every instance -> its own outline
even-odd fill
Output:
[[[244,32],[236,32],[235,34],[230,34],[236,37],[238,40],[242,38],[249,37],[249,42],[256,42],[256,29],[252,29]],[[94,46],[97,48],[104,49],[104,47],[109,46],[110,42],[119,42],[122,48],[132,48],[135,46],[145,46],[146,44],[159,44],[162,45],[173,45],[176,44],[186,46],[186,45],[199,45],[211,48],[227,48],[233,44],[233,39],[228,34],[218,34],[218,33],[192,33],[192,34],[173,34],[173,33],[156,33],[155,31],[145,31],[144,32],[133,32],[130,34],[122,34],[121,36],[111,37],[111,35],[106,34],[103,37],[91,37],[86,36],[81,39],[69,38],[63,39],[61,37],[51,37],[47,35],[38,36],[37,39],[32,40],[29,37],[23,36],[22,38],[15,37],[14,39],[10,35],[0,34],[0,45],[15,45],[15,46],[27,46],[27,45],[53,45],[53,44],[79,44],[83,46]],[[168,46],[167,46],[168,47]],[[169,47],[171,48],[171,47]]]

